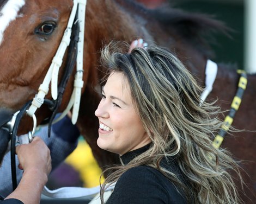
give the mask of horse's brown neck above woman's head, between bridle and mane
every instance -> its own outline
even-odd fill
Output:
[[[143,37],[149,44],[168,47],[190,71],[204,78],[205,56],[191,44],[180,40],[179,34],[166,31],[149,10],[130,0],[88,1],[86,43],[90,53],[99,53],[103,43],[110,40],[131,42],[138,37]],[[97,59],[99,54],[94,57],[95,61]]]

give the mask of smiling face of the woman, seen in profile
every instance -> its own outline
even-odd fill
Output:
[[[120,72],[112,73],[102,88],[95,116],[99,118],[101,149],[123,155],[151,142],[132,104],[130,86]]]

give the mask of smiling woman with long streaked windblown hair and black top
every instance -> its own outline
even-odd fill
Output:
[[[97,144],[123,165],[112,167],[101,202],[117,182],[107,203],[239,203],[229,173],[239,174],[237,164],[212,146],[219,110],[200,106],[202,88],[167,50],[123,50],[102,51],[108,72],[95,111]]]

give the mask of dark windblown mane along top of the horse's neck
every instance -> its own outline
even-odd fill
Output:
[[[229,33],[233,31],[214,16],[186,12],[172,8],[170,5],[148,9],[133,0],[115,0],[115,2],[121,8],[142,16],[149,22],[157,21],[166,32],[179,36],[179,39],[209,56],[212,54],[210,43],[216,43],[213,34],[221,33],[230,37]]]

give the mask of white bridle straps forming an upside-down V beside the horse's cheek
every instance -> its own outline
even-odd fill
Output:
[[[79,8],[78,8],[79,4]],[[48,69],[48,72],[45,76],[44,81],[39,86],[38,94],[35,95],[32,105],[29,107],[27,114],[29,116],[33,116],[35,111],[41,107],[41,105],[44,103],[45,95],[49,91],[49,86],[51,82],[51,94],[52,98],[54,100],[57,99],[58,95],[58,74],[59,74],[59,68],[62,66],[62,59],[66,52],[66,48],[69,46],[70,43],[70,36],[72,31],[72,25],[74,24],[76,11],[78,10],[78,21],[80,23],[80,35],[79,35],[79,42],[78,42],[78,54],[77,54],[77,73],[75,76],[75,82],[74,82],[74,90],[72,93],[72,97],[70,99],[70,105],[68,105],[67,109],[68,111],[73,107],[72,111],[72,123],[75,124],[78,117],[79,112],[79,106],[80,106],[80,98],[81,98],[81,89],[83,87],[83,42],[84,42],[84,23],[85,23],[85,16],[86,16],[86,0],[74,0],[74,5],[71,10],[71,14],[69,17],[69,22],[67,25],[66,30],[64,31],[62,42],[59,45],[59,48],[56,52],[56,55],[54,56],[52,60],[52,64],[50,68]],[[71,107],[70,107],[71,106]],[[68,112],[65,111],[65,112]]]

